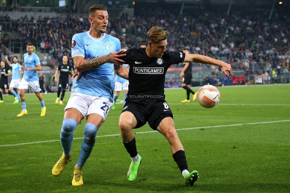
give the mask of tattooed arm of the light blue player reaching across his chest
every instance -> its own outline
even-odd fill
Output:
[[[119,55],[119,53],[121,52],[124,52],[124,50],[120,50],[118,52],[110,52],[108,55],[99,56],[92,60],[86,60],[83,58],[83,56],[75,56],[73,58],[73,62],[78,72],[83,72],[85,70],[99,67],[105,63],[123,65],[124,61],[119,58],[126,56],[126,54]]]

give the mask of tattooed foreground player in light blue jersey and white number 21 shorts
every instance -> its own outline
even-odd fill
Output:
[[[89,9],[91,28],[88,32],[75,34],[72,39],[72,57],[76,69],[80,72],[73,81],[72,94],[64,111],[64,120],[60,132],[63,154],[54,165],[52,174],[60,175],[64,166],[71,161],[71,144],[73,131],[80,121],[87,116],[84,126],[84,138],[81,152],[75,165],[72,185],[83,184],[82,168],[94,147],[96,133],[113,102],[114,91],[114,64],[124,61],[119,57],[121,53],[119,39],[105,34],[108,13],[103,5],[93,5]],[[108,63],[110,62],[110,63]],[[118,69],[127,71],[122,66]],[[119,74],[119,70],[116,73]],[[121,74],[119,74],[121,76]],[[123,77],[128,77],[128,71]]]

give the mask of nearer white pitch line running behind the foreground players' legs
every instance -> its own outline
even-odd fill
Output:
[[[176,131],[187,130],[187,129],[204,129],[204,128],[215,128],[215,127],[228,127],[228,126],[240,126],[240,125],[278,123],[278,122],[286,122],[286,121],[290,121],[290,120],[266,121],[266,122],[257,122],[257,123],[242,123],[242,124],[232,124],[232,125],[217,125],[217,126],[205,126],[205,127],[191,127],[191,128],[184,128],[184,129],[176,129]],[[158,131],[135,132],[135,134],[153,133],[153,132],[158,132]],[[111,137],[111,136],[119,136],[119,135],[121,135],[121,134],[100,135],[100,136],[96,136],[96,137]],[[83,137],[73,138],[73,140],[74,139],[83,139]],[[49,140],[49,141],[37,141],[37,142],[29,142],[29,143],[10,144],[10,145],[0,145],[0,147],[15,146],[15,145],[27,145],[27,144],[35,144],[35,143],[46,143],[46,142],[54,142],[54,141],[60,141],[60,140]]]

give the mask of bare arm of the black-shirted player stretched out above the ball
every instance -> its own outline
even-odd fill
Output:
[[[213,64],[213,65],[219,66],[225,75],[227,76],[231,75],[231,64],[227,64],[221,60],[216,60],[208,56],[203,56],[203,55],[198,55],[198,54],[185,54],[185,58],[183,62],[197,62],[197,63],[202,63],[202,64]]]

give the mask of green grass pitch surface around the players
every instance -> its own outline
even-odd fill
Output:
[[[181,104],[184,89],[168,89],[166,100],[174,114],[176,129],[289,120],[290,85],[218,87],[220,104],[212,109],[197,100]],[[197,91],[197,89],[193,89]],[[21,104],[4,96],[0,104],[0,192],[289,192],[290,121],[178,130],[190,172],[200,179],[193,187],[183,184],[170,146],[160,133],[135,134],[142,164],[134,182],[127,180],[131,159],[120,135],[97,137],[83,169],[84,185],[71,185],[73,167],[82,139],[74,139],[73,160],[55,177],[51,169],[62,154],[60,141],[15,146],[8,144],[59,140],[64,105],[56,94],[43,95],[46,115],[40,116],[38,98],[26,95],[28,115],[16,117]],[[122,93],[119,99],[123,99]],[[191,96],[192,99],[192,96]],[[226,105],[232,104],[232,105]],[[239,105],[245,104],[245,105]],[[262,104],[262,105],[247,105]],[[281,104],[269,105],[269,104]],[[119,134],[122,104],[111,110],[97,136]],[[74,137],[83,137],[85,120]],[[152,131],[148,124],[134,132]]]

